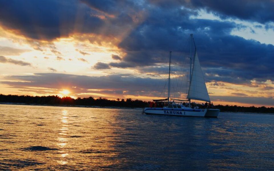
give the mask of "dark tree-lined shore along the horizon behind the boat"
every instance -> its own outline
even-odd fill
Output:
[[[147,107],[150,101],[116,99],[109,100],[99,97],[84,97],[73,99],[71,97],[59,97],[57,95],[49,96],[30,96],[30,95],[3,95],[0,94],[0,103],[23,103],[32,105],[70,105],[70,106],[100,106],[100,107],[129,107],[129,108],[144,108]],[[250,112],[250,113],[274,113],[274,107],[243,107],[237,105],[215,105],[214,108],[220,109],[222,112]]]

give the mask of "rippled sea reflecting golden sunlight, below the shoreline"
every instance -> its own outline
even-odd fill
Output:
[[[274,115],[0,105],[0,170],[273,170]]]

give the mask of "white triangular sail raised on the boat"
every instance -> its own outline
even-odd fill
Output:
[[[188,89],[187,98],[210,102],[197,52],[194,57],[192,76],[190,79],[190,87]]]

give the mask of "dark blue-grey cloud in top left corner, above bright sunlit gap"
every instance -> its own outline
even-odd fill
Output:
[[[0,0],[0,23],[36,40],[50,41],[73,33],[113,38],[132,28],[140,10],[131,1]]]

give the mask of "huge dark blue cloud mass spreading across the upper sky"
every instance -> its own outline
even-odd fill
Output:
[[[98,62],[94,69],[132,68],[138,72],[144,69],[154,75],[164,71],[157,66],[167,62],[170,50],[174,57],[188,52],[184,46],[189,34],[193,33],[207,82],[250,84],[250,80],[274,80],[274,46],[231,35],[234,29],[245,27],[232,20],[192,19],[190,16],[205,10],[222,19],[257,21],[265,24],[263,28],[273,29],[273,3],[271,0],[235,3],[213,0],[15,0],[0,2],[0,22],[3,28],[28,38],[38,50],[47,46],[57,51],[47,43],[69,36],[98,46],[113,43],[123,58],[112,55],[117,61]],[[47,42],[46,45],[43,42]],[[57,57],[57,60],[64,59]]]

